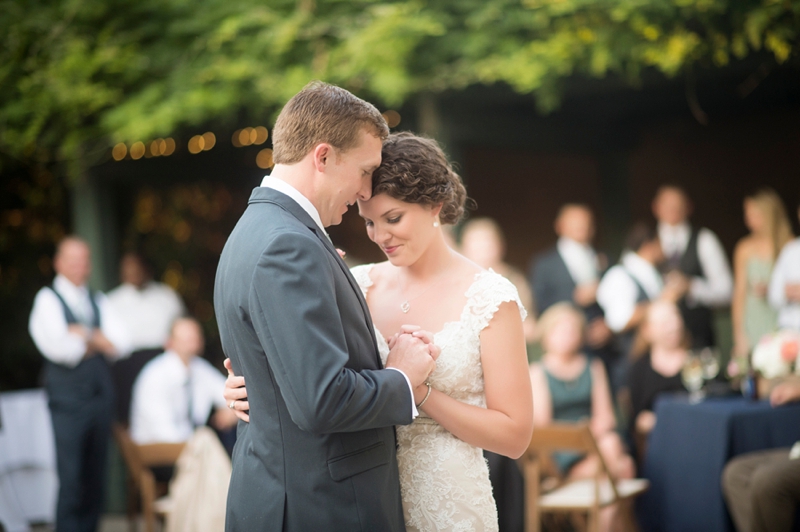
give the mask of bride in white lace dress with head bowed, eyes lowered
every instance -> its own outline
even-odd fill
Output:
[[[446,244],[441,226],[459,221],[466,191],[436,142],[396,133],[382,157],[372,198],[359,201],[359,214],[388,261],[352,273],[384,362],[401,332],[438,331],[433,338],[441,348],[427,385],[415,391],[425,398],[419,417],[397,427],[406,527],[497,530],[482,449],[518,458],[530,441],[525,309],[511,282]],[[225,398],[238,400],[237,411],[249,408],[243,385],[234,376],[226,383]]]

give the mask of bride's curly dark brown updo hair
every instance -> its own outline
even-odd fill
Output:
[[[433,139],[392,133],[383,143],[381,165],[372,174],[372,195],[405,203],[442,204],[439,220],[453,225],[464,215],[467,190]]]

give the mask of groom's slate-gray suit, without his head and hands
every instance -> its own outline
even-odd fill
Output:
[[[226,530],[404,530],[394,425],[411,422],[408,384],[382,369],[358,285],[293,199],[253,191],[214,306],[250,401]]]

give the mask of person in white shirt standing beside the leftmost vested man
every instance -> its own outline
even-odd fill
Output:
[[[120,284],[108,293],[108,303],[125,316],[133,353],[112,368],[117,395],[116,417],[128,424],[131,390],[141,369],[164,351],[169,329],[185,309],[178,294],[153,280],[153,269],[138,253],[126,253],[120,261]]]

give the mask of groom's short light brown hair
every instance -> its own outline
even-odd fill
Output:
[[[347,151],[358,144],[362,129],[381,140],[389,136],[386,120],[374,105],[335,85],[312,81],[278,115],[272,130],[272,160],[300,162],[323,142]]]

